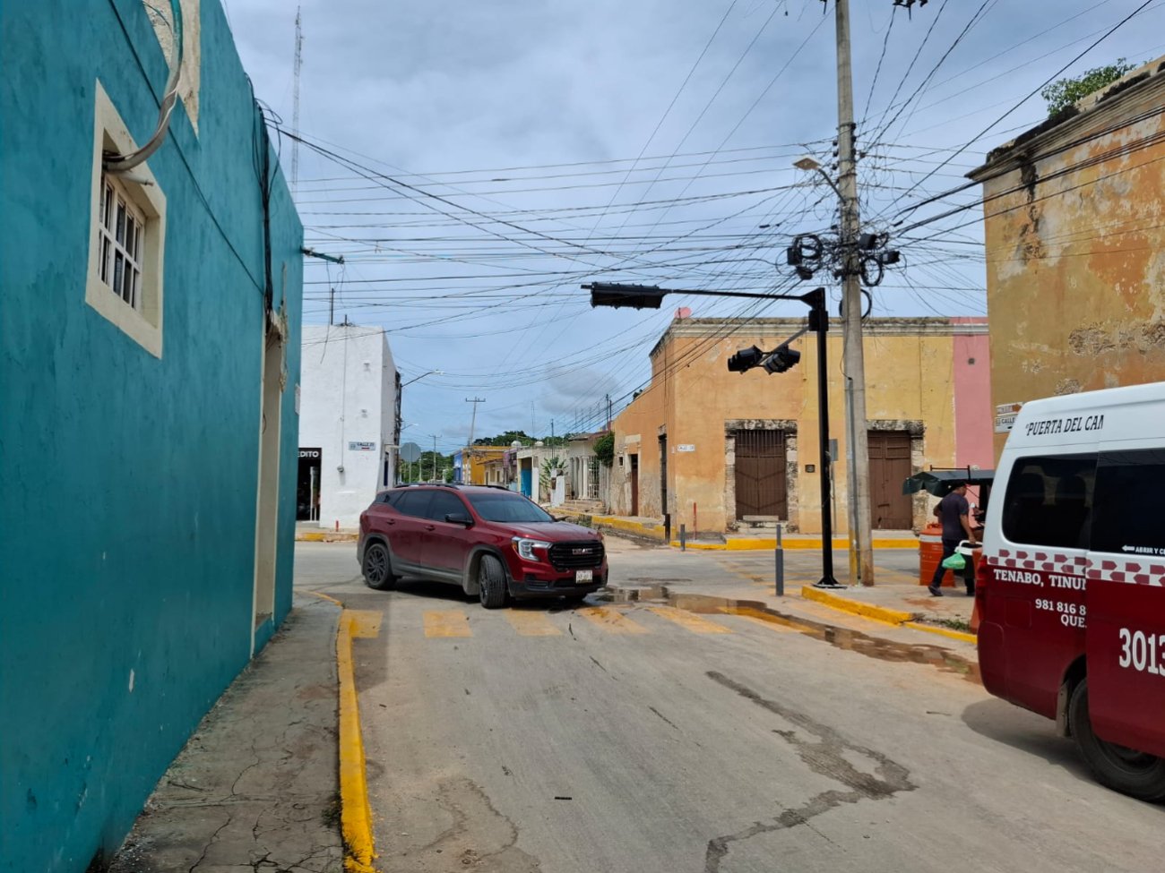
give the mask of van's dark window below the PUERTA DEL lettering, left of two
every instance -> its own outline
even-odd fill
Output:
[[[1088,548],[1096,455],[1021,457],[1003,503],[1003,535],[1017,545]]]

